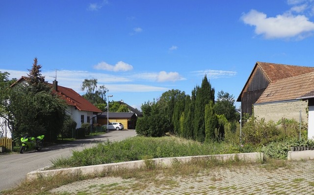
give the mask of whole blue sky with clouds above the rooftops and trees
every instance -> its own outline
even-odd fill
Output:
[[[96,78],[138,109],[205,74],[236,99],[257,61],[312,67],[313,45],[313,0],[0,1],[0,72],[37,57],[46,81],[84,94]]]

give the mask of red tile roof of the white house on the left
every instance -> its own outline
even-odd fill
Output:
[[[51,83],[49,84],[52,86]],[[75,106],[78,110],[98,113],[103,112],[92,103],[90,103],[87,99],[80,96],[73,89],[58,85],[57,91],[52,91],[56,93],[59,97],[61,97],[61,99],[64,99],[68,105]]]

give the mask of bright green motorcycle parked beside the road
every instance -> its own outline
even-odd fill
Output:
[[[36,149],[37,151],[43,148],[44,135],[40,135],[38,137],[30,137],[26,135],[24,138],[21,138],[22,146],[20,149],[20,153],[23,154],[26,150]]]

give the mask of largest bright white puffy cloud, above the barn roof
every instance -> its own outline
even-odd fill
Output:
[[[267,39],[292,38],[302,39],[314,31],[314,23],[304,15],[277,15],[268,17],[266,14],[251,10],[241,17],[245,24],[255,26],[257,35],[264,35]]]

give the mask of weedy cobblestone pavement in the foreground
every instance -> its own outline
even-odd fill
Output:
[[[193,176],[157,175],[153,181],[104,177],[53,189],[53,194],[84,195],[314,195],[314,160],[216,168]]]

